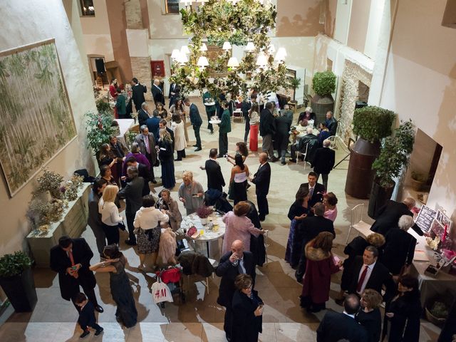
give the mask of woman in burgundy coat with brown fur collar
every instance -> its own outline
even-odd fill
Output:
[[[333,239],[330,232],[321,232],[306,244],[307,266],[303,279],[301,307],[307,311],[318,312],[326,309],[331,274],[339,270],[331,253]]]

